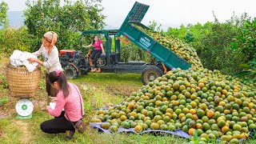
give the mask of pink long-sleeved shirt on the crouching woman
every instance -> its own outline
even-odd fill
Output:
[[[80,91],[78,89],[78,86],[75,86],[74,84],[68,82],[68,85],[70,86],[70,94],[68,97],[64,98],[64,95],[62,93],[62,90],[58,91],[57,94],[57,101],[56,106],[54,110],[50,108],[50,106],[47,106],[46,110],[48,113],[54,117],[58,117],[62,113],[62,109],[65,110],[65,118],[71,122],[76,122],[80,118],[82,118],[81,114],[81,103],[82,103],[82,113],[84,114],[84,108],[83,108],[83,100],[82,96],[80,96]],[[75,88],[75,87],[77,88]],[[81,101],[80,101],[81,99]],[[66,114],[69,116],[67,117]]]

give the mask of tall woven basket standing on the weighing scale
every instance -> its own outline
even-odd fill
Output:
[[[16,98],[34,97],[41,78],[41,69],[37,68],[29,72],[25,66],[14,67],[10,64],[6,67],[6,77],[10,94]]]

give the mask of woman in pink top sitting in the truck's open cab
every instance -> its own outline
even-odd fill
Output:
[[[97,66],[97,59],[101,57],[101,54],[106,55],[105,50],[103,48],[103,44],[102,41],[100,39],[98,39],[98,35],[94,35],[94,40],[93,42],[88,45],[88,46],[84,46],[84,47],[90,47],[90,46],[94,46],[95,50],[93,52],[93,54],[91,55],[91,58],[94,59],[94,70],[93,72],[95,72],[98,68]]]

